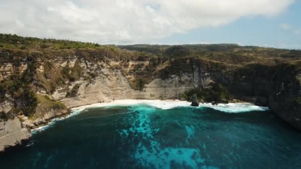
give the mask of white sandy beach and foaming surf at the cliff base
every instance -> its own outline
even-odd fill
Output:
[[[44,131],[48,127],[51,127],[57,121],[62,121],[68,119],[72,116],[83,113],[83,111],[87,108],[98,108],[98,107],[112,107],[112,106],[129,106],[135,104],[147,104],[149,106],[153,106],[159,109],[167,110],[176,107],[191,107],[191,108],[212,108],[215,110],[219,110],[225,113],[241,113],[241,112],[250,112],[250,111],[268,111],[268,107],[256,106],[252,103],[247,102],[237,102],[237,103],[219,103],[218,105],[212,105],[211,103],[200,103],[199,107],[191,106],[191,102],[177,100],[177,99],[169,99],[169,100],[147,100],[147,99],[124,99],[124,100],[114,100],[104,103],[94,103],[79,107],[71,108],[71,113],[65,117],[53,118],[50,122],[44,126],[37,127],[31,129],[33,134],[37,132]]]

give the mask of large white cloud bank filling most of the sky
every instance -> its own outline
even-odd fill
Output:
[[[294,0],[1,0],[0,32],[100,43],[151,42],[242,17],[276,16],[292,3]]]

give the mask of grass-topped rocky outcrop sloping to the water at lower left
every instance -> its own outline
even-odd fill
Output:
[[[0,105],[0,153],[4,149],[20,145],[31,137],[31,130],[48,124],[53,118],[63,117],[70,113],[62,103],[50,100],[37,94],[38,105],[35,114],[30,118],[16,114],[22,112],[14,108],[13,98],[6,96],[5,101]],[[9,100],[9,101],[7,101]]]

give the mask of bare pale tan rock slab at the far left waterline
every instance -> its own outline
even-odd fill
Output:
[[[30,130],[22,127],[18,118],[0,118],[0,153],[11,146],[20,145],[30,137]]]

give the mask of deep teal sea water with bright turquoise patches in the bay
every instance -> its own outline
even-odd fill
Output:
[[[269,111],[89,108],[0,156],[0,169],[298,169],[301,133]]]

